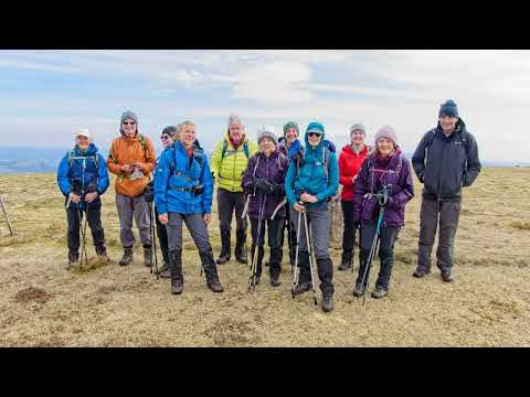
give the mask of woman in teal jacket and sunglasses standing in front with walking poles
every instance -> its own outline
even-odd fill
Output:
[[[298,216],[306,212],[308,226],[312,230],[312,244],[317,258],[322,310],[333,310],[333,266],[329,256],[329,201],[339,189],[339,165],[335,152],[324,143],[325,128],[320,122],[310,122],[305,133],[306,148],[289,163],[285,179],[285,193],[289,203],[290,218],[298,227]],[[298,234],[298,229],[297,229]],[[298,267],[299,282],[293,296],[311,289],[309,251],[304,222],[300,222]]]

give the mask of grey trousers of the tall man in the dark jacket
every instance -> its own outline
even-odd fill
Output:
[[[460,202],[441,202],[422,197],[420,212],[420,242],[417,267],[431,268],[431,251],[438,227],[438,249],[436,266],[442,271],[449,271],[454,265],[455,235],[460,215]]]

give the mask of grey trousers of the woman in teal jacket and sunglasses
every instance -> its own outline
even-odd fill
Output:
[[[300,214],[300,250],[307,251],[306,244],[306,228],[304,226],[304,214],[295,211],[289,206],[290,222],[295,225],[295,230],[298,234],[298,214]],[[312,229],[312,240],[315,245],[315,256],[318,259],[329,258],[329,226],[330,214],[328,203],[325,203],[320,208],[306,208],[307,224],[309,230]],[[310,237],[310,235],[309,235]]]

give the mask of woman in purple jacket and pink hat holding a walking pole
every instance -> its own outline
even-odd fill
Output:
[[[405,205],[414,196],[411,165],[398,146],[398,136],[390,126],[375,135],[374,151],[363,162],[353,193],[353,218],[361,226],[361,266],[353,294],[361,297],[367,288],[362,282],[370,248],[375,236],[381,206],[375,194],[388,189],[389,198],[380,232],[379,259],[381,268],[372,298],[389,293],[390,276],[394,264],[394,242],[405,221]],[[368,277],[367,277],[368,279]]]

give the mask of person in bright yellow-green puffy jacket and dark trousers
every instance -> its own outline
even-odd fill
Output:
[[[257,153],[257,143],[251,141],[245,133],[245,126],[240,116],[229,117],[229,128],[223,139],[215,144],[210,168],[218,185],[218,214],[221,229],[221,254],[215,260],[223,265],[230,260],[230,232],[232,215],[235,210],[236,235],[235,258],[246,264],[246,219],[242,218],[245,207],[242,180],[248,159]]]

